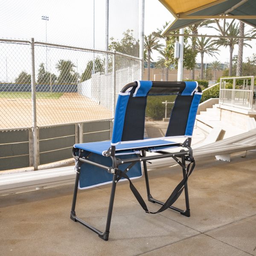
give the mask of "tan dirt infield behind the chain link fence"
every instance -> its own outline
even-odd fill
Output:
[[[37,99],[36,108],[38,126],[112,117],[109,109],[79,93],[64,93],[59,99]],[[0,98],[0,119],[0,129],[31,127],[31,99]]]

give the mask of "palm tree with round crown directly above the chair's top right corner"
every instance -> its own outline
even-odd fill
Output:
[[[201,74],[200,77],[203,79],[204,73],[204,53],[209,56],[215,56],[218,53],[218,49],[214,47],[215,43],[211,41],[211,38],[200,37],[196,39],[195,49],[201,54]]]

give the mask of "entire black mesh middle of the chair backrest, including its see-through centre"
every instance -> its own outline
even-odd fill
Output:
[[[182,93],[185,87],[185,82],[172,82],[172,87],[170,87],[169,83],[157,82],[157,87],[154,87],[153,81],[148,96],[133,97],[134,87],[131,90],[125,111],[122,141],[164,136],[183,136],[186,131],[189,109],[193,98],[193,96],[177,95]],[[167,102],[175,101],[173,108],[173,104],[168,105],[167,117],[170,117],[169,111],[172,108],[169,124],[168,122],[163,122],[165,112],[165,104],[163,102],[166,100]],[[149,109],[152,112],[152,105],[155,105],[154,115],[152,113],[151,115],[149,114]],[[147,113],[146,120],[145,112]]]

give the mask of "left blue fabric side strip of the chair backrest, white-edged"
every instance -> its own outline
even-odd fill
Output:
[[[130,95],[118,95],[111,140],[112,143],[119,143],[122,139],[122,131],[125,121],[125,111],[129,96]]]

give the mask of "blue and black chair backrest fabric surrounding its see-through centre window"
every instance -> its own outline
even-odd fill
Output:
[[[144,138],[148,96],[176,95],[164,138],[192,137],[201,94],[196,81],[136,81],[126,85],[117,99],[111,145],[150,140]]]

